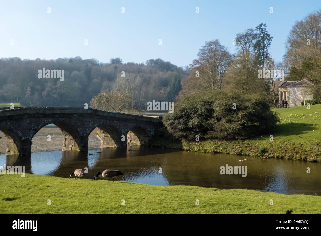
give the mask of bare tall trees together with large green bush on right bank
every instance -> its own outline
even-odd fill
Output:
[[[314,101],[321,97],[321,11],[295,22],[287,37],[282,62],[274,62],[269,49],[273,37],[266,24],[236,34],[237,53],[218,39],[206,42],[182,80],[174,113],[163,122],[179,139],[244,139],[275,128],[279,118],[270,110],[279,100],[282,80],[308,79]],[[282,73],[279,73],[279,70]],[[274,71],[277,71],[274,73]],[[284,71],[284,72],[283,72]],[[306,91],[306,84],[302,82]],[[164,132],[167,139],[171,136]]]

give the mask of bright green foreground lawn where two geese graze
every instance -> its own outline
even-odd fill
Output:
[[[311,195],[30,174],[0,175],[0,183],[1,213],[321,213],[321,197]]]

